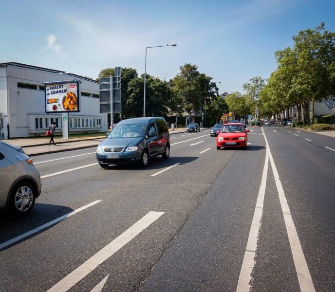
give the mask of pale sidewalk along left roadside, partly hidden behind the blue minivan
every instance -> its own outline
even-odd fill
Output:
[[[186,128],[178,128],[174,131],[169,130],[169,134],[178,134],[186,132]],[[71,137],[71,136],[70,136]],[[48,153],[63,152],[69,150],[83,149],[98,146],[99,143],[106,138],[106,134],[102,133],[101,136],[85,138],[57,138],[54,137],[56,145],[49,146],[50,138],[45,136],[42,138],[14,138],[14,139],[5,139],[1,140],[15,146],[21,146],[23,151],[29,156],[37,156]]]

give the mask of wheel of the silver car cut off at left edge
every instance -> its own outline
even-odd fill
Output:
[[[19,182],[11,192],[10,208],[17,216],[28,215],[34,207],[35,198],[34,186],[29,182]]]

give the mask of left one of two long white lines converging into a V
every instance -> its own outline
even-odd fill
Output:
[[[264,136],[265,137],[265,136]],[[237,284],[237,292],[246,292],[250,290],[251,285],[251,273],[255,266],[256,250],[257,250],[257,239],[261,228],[261,219],[263,215],[263,202],[266,188],[267,171],[269,165],[269,147],[266,145],[265,163],[263,167],[263,174],[261,178],[261,185],[258,191],[258,197],[252,219],[251,228],[249,232],[248,242],[246,244],[245,253],[243,257],[243,263],[239,282]]]

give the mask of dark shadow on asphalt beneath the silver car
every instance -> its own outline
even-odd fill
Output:
[[[74,211],[72,208],[69,208],[66,206],[35,203],[35,206],[32,212],[28,216],[25,216],[25,217],[15,217],[10,211],[1,213],[0,214],[0,243],[3,243],[19,235],[22,235],[23,233],[31,231],[43,224],[46,224],[72,211]],[[26,240],[30,237],[33,237],[51,228],[54,225],[51,225],[45,229],[42,229],[41,231],[34,233],[33,235],[29,237],[25,237],[22,240]],[[20,241],[17,241],[10,246],[16,245]],[[5,247],[4,249],[7,249],[8,247]]]

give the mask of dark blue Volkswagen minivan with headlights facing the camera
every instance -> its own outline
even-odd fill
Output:
[[[168,126],[161,117],[123,120],[96,148],[96,159],[103,168],[133,162],[147,166],[149,159],[158,155],[170,156]]]

